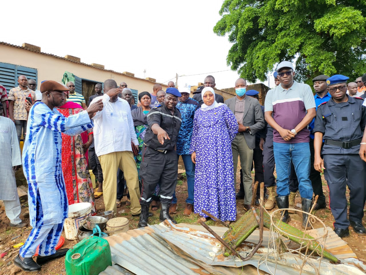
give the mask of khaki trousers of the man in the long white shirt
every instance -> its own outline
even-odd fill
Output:
[[[140,191],[136,162],[131,151],[113,152],[98,157],[103,171],[103,199],[105,211],[114,210],[117,213],[117,169],[121,169],[126,179],[131,199],[131,213],[141,213]]]

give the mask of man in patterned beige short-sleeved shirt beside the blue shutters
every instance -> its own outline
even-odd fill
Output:
[[[28,79],[26,76],[18,77],[19,86],[10,89],[9,92],[9,118],[14,121],[16,128],[16,135],[18,135],[18,141],[20,142],[20,137],[25,139],[25,132],[27,130],[27,119],[28,114],[25,109],[25,98],[31,96],[32,101],[36,101],[36,93],[28,88]]]

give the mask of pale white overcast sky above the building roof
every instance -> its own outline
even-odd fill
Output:
[[[1,23],[0,40],[34,44],[42,52],[77,56],[84,63],[153,77],[165,84],[175,81],[178,73],[178,85],[197,85],[210,73],[217,88],[228,88],[239,76],[226,64],[231,47],[227,37],[213,33],[222,3],[2,1],[1,10],[7,17]],[[192,74],[200,75],[188,76]],[[270,87],[274,86],[272,78]]]

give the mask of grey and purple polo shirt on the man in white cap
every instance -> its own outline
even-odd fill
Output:
[[[294,81],[288,90],[278,85],[268,91],[264,103],[264,111],[273,111],[273,119],[284,129],[294,129],[306,115],[306,110],[315,108],[315,100],[311,88],[307,84]],[[300,143],[309,142],[310,131],[305,127],[297,135],[285,141],[279,132],[273,129],[273,142]]]

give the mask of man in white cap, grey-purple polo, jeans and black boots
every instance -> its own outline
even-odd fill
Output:
[[[270,90],[265,99],[265,119],[273,128],[273,153],[277,171],[278,207],[288,208],[290,194],[288,178],[291,160],[299,180],[302,210],[310,211],[313,187],[309,179],[310,148],[307,125],[315,117],[313,92],[307,84],[294,81],[294,68],[289,61],[277,66],[280,85]],[[273,114],[273,117],[272,117]],[[282,221],[288,222],[287,210],[282,211]],[[307,214],[303,214],[303,227],[307,227]]]

